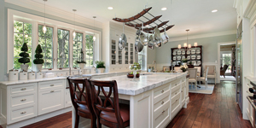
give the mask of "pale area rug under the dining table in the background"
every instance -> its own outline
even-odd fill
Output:
[[[201,93],[201,94],[212,94],[213,89],[214,89],[214,84],[208,84],[207,89],[206,89],[205,84],[201,84],[199,86],[201,86],[201,88],[197,87],[197,90],[195,90],[194,84],[189,84],[189,92],[190,93]]]

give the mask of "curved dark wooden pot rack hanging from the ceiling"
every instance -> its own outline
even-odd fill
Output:
[[[162,15],[158,15],[158,16],[154,16],[152,14],[149,13],[149,10],[152,9],[152,7],[148,8],[148,9],[143,9],[142,12],[138,13],[137,15],[131,16],[130,18],[126,18],[126,19],[121,19],[121,18],[113,18],[113,20],[118,21],[118,22],[123,22],[125,23],[126,26],[131,26],[134,27],[136,29],[141,29],[141,27],[146,27],[146,26],[151,26],[151,27],[147,27],[147,28],[143,28],[143,32],[148,32],[148,33],[154,33],[154,28],[158,27],[158,28],[162,28],[160,30],[160,32],[165,32],[168,31],[169,29],[171,29],[174,25],[168,26],[166,25],[169,20],[166,21],[161,21],[160,17]],[[153,19],[149,19],[148,17],[146,17],[145,15],[151,15],[153,17]],[[148,21],[143,21],[140,18],[143,17],[145,19],[147,19]],[[136,20],[139,20],[142,23],[138,23]],[[156,23],[156,20],[160,21],[160,24]],[[154,23],[156,26],[152,26],[152,23]],[[165,26],[165,27],[164,27]]]

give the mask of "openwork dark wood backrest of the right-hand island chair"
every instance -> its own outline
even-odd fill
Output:
[[[90,96],[92,98],[92,107],[98,116],[102,111],[115,113],[119,125],[123,125],[123,120],[119,111],[119,94],[115,80],[99,81],[89,80],[90,83]],[[108,91],[108,93],[107,93]],[[100,93],[102,92],[105,100],[103,101]],[[110,96],[113,94],[113,100]]]

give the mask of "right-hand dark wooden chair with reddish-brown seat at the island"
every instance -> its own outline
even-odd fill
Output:
[[[118,88],[115,80],[98,81],[90,79],[90,96],[97,118],[97,127],[106,125],[111,128],[123,128],[130,125],[130,106],[119,104]],[[106,92],[108,89],[108,94]],[[102,92],[105,100],[102,101]],[[110,96],[113,93],[113,100]]]

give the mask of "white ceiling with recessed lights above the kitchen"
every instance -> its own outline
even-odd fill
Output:
[[[43,0],[32,0],[44,3]],[[46,6],[68,12],[77,9],[77,15],[100,22],[113,21],[112,18],[129,18],[145,9],[145,5],[153,7],[149,12],[152,15],[162,15],[160,20],[170,20],[168,25],[175,26],[167,34],[173,37],[183,37],[186,29],[189,35],[225,32],[236,30],[236,9],[234,0],[48,0]],[[108,7],[112,6],[113,10]],[[166,7],[166,11],[161,8]],[[212,13],[212,9],[218,9]],[[149,19],[150,17],[147,15]],[[114,21],[115,22],[115,21]]]

